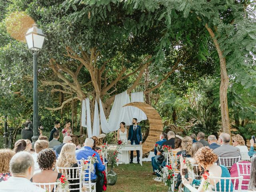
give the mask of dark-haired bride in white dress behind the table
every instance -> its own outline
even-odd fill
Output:
[[[125,128],[125,122],[120,123],[120,128],[117,131],[117,139],[122,141],[122,144],[128,143],[128,131]],[[118,164],[128,164],[129,163],[129,153],[128,151],[121,151],[118,156],[119,162]]]

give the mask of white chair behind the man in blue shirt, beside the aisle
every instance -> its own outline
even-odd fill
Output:
[[[91,166],[94,166],[89,160],[88,160],[88,168],[82,172],[82,168],[80,171],[80,188],[82,189],[82,186],[86,186],[86,191],[88,192],[96,192],[96,183],[92,183],[91,179]]]

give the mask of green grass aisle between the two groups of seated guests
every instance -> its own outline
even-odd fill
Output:
[[[151,162],[121,164],[114,168],[118,174],[114,186],[107,186],[107,192],[168,192],[163,182],[153,180]]]

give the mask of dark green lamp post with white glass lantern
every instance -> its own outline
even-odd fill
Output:
[[[33,27],[28,30],[25,35],[28,49],[33,53],[33,65],[34,65],[34,78],[33,78],[33,137],[32,146],[36,140],[38,140],[38,89],[37,89],[37,51],[42,49],[46,35],[43,34],[41,29],[37,28],[37,24],[33,24]]]

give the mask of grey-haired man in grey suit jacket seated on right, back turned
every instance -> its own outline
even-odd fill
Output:
[[[237,147],[233,147],[229,144],[230,135],[222,133],[219,136],[220,147],[213,150],[213,152],[219,157],[238,157],[241,156],[240,150]]]

